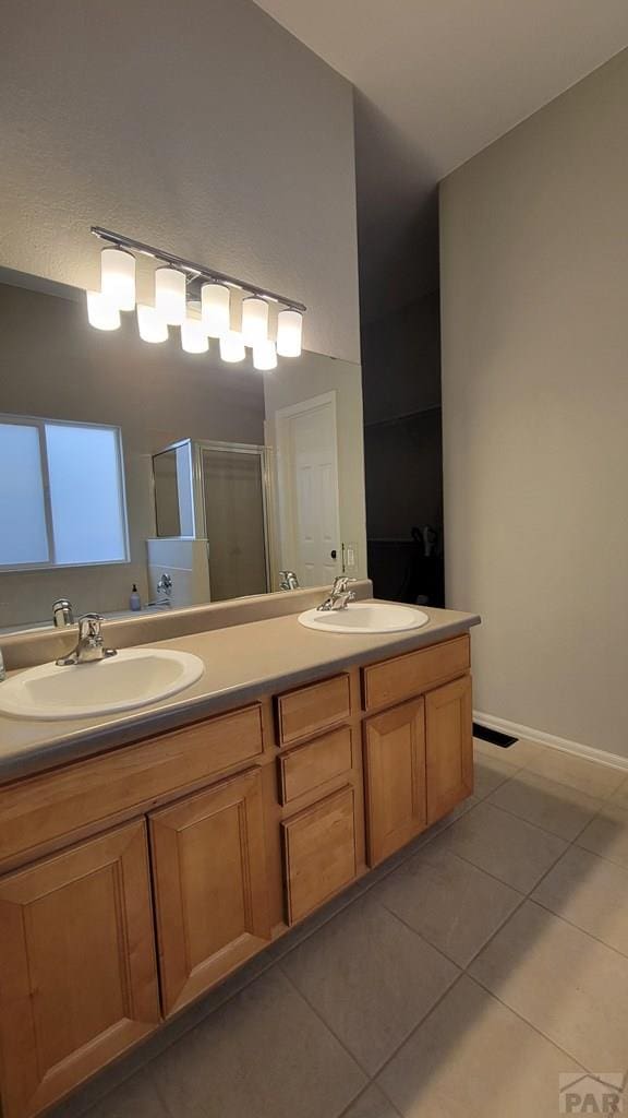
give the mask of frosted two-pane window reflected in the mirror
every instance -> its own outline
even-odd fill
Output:
[[[0,570],[127,561],[120,428],[0,416]]]

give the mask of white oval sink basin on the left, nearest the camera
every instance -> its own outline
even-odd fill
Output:
[[[0,713],[60,719],[145,707],[200,680],[204,664],[189,652],[123,648],[92,664],[41,664],[0,683]]]

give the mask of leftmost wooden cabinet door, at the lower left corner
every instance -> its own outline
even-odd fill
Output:
[[[0,879],[2,1115],[39,1114],[160,1020],[146,831]]]

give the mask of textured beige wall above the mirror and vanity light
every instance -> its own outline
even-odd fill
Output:
[[[360,359],[352,88],[251,0],[4,0],[0,136],[0,265],[95,286],[103,225]]]

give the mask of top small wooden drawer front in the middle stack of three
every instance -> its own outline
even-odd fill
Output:
[[[337,726],[351,714],[349,675],[312,683],[277,698],[277,729],[283,746]]]

